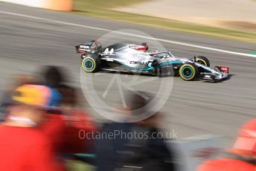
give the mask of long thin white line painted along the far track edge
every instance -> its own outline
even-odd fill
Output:
[[[106,29],[106,28],[96,28],[96,27],[91,27],[89,25],[79,25],[79,24],[75,24],[75,23],[71,23],[71,22],[61,22],[61,21],[54,20],[54,19],[46,19],[46,18],[37,17],[37,16],[29,16],[29,15],[25,15],[25,14],[21,14],[21,13],[11,13],[11,12],[2,11],[2,10],[0,10],[0,13],[4,13],[4,14],[7,14],[7,15],[11,15],[11,16],[26,17],[26,18],[29,18],[29,19],[37,19],[37,20],[42,20],[42,21],[45,21],[45,22],[53,22],[53,23],[57,23],[57,24],[61,24],[61,25],[70,25],[70,26],[79,27],[79,28],[87,28],[87,29],[92,29],[92,30],[112,31],[112,30],[109,30],[109,29]],[[192,47],[192,48],[201,48],[201,49],[205,49],[205,50],[208,50],[208,51],[217,51],[217,52],[222,52],[222,53],[225,53],[225,54],[234,54],[234,55],[239,55],[239,56],[243,56],[243,57],[254,57],[254,58],[256,58],[256,55],[254,55],[254,54],[245,54],[245,53],[234,52],[234,51],[226,51],[226,50],[219,49],[219,48],[210,48],[210,47],[206,47],[206,46],[202,46],[202,45],[193,45],[193,44],[184,43],[184,42],[176,42],[176,41],[172,41],[172,40],[168,40],[168,39],[159,39],[159,38],[141,36],[141,35],[137,35],[137,34],[124,33],[124,32],[120,32],[120,31],[117,31],[116,33],[119,33],[121,35],[127,35],[127,36],[141,37],[141,38],[144,38],[144,39],[153,39],[153,40],[157,40],[157,41],[160,41],[160,42],[167,42],[167,43],[172,43],[172,44],[176,44],[176,45],[184,45],[184,46],[188,46],[188,47]]]

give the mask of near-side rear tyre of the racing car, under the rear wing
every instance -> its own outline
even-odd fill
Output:
[[[95,55],[88,55],[83,58],[81,67],[83,68],[83,71],[96,72],[100,68],[100,59]]]

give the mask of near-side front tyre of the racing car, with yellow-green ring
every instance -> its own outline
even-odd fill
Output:
[[[179,77],[186,81],[195,80],[199,75],[198,68],[193,63],[185,63],[179,68]]]

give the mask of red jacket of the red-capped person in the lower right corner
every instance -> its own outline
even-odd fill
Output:
[[[197,171],[255,171],[256,166],[231,158],[206,161],[200,165]]]

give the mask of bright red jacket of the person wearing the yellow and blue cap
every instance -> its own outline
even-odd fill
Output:
[[[51,143],[36,128],[0,125],[0,170],[59,171]]]

